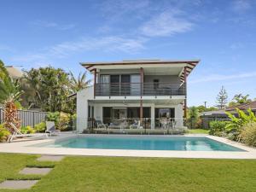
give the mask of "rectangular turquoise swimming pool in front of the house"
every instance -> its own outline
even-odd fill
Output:
[[[84,136],[72,137],[55,143],[41,144],[47,148],[102,148],[133,150],[179,151],[244,151],[207,137],[157,136]]]

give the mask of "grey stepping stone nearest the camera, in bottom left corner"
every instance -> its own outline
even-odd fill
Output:
[[[0,183],[0,189],[30,189],[39,180],[6,180]]]

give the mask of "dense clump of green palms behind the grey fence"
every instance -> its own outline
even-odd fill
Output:
[[[68,73],[54,67],[32,68],[24,73],[24,89],[29,91],[26,91],[23,97],[32,97],[30,102],[33,102],[34,107],[49,112],[70,112],[67,96],[72,91],[68,87]]]

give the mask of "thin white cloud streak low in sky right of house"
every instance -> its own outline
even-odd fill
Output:
[[[189,81],[189,83],[195,84],[195,83],[223,81],[223,80],[230,80],[230,79],[245,79],[245,78],[253,78],[253,77],[256,77],[256,72],[238,73],[238,74],[234,74],[234,75],[212,74],[212,75],[208,75],[207,77],[202,77],[201,79],[191,80],[191,81]]]

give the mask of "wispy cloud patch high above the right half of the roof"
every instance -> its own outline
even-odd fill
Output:
[[[148,37],[172,36],[180,32],[188,32],[194,24],[181,17],[178,10],[166,11],[154,16],[140,28],[143,35]]]

